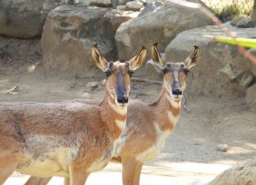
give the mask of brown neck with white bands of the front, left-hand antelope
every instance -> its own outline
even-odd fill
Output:
[[[101,102],[100,117],[113,133],[114,140],[119,139],[126,126],[127,106],[119,107],[111,94],[105,91],[104,100]]]

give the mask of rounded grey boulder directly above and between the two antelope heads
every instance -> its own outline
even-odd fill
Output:
[[[166,2],[154,12],[144,13],[121,24],[115,35],[119,57],[132,57],[137,54],[138,46],[150,48],[156,42],[163,51],[179,32],[209,24],[210,20],[197,9]]]

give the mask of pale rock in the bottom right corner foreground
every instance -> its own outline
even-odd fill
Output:
[[[208,185],[254,185],[256,184],[256,158],[235,165],[216,176]]]

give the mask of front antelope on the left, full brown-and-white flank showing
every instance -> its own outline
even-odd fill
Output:
[[[126,125],[130,76],[145,62],[146,50],[130,61],[110,62],[92,47],[92,61],[107,74],[100,104],[0,102],[0,184],[14,171],[64,176],[85,184],[111,160]]]

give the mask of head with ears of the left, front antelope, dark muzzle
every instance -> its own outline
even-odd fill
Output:
[[[92,47],[92,61],[107,76],[106,91],[110,94],[112,103],[119,107],[127,105],[130,92],[130,77],[137,68],[144,64],[145,57],[146,49],[145,46],[142,46],[139,54],[131,58],[130,61],[107,62],[100,54],[97,45]]]

